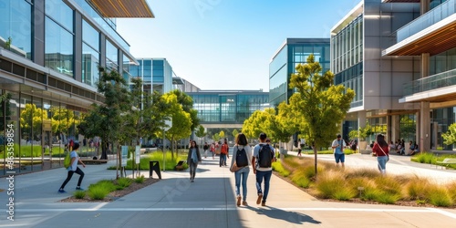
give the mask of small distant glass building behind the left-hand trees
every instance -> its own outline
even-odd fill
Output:
[[[173,89],[172,67],[166,58],[137,58],[139,65],[130,65],[132,77],[142,78],[143,91],[167,93]]]

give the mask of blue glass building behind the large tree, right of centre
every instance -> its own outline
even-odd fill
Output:
[[[271,107],[288,101],[294,89],[289,88],[291,74],[298,64],[306,63],[307,57],[314,55],[322,66],[322,73],[329,70],[328,38],[287,38],[269,63],[269,102]]]

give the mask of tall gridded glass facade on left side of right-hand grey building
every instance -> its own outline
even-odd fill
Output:
[[[351,108],[363,105],[363,16],[331,36],[331,70],[335,84],[355,91]]]

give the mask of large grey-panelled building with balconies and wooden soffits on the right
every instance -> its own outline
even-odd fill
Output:
[[[353,88],[344,124],[376,127],[420,150],[453,150],[441,133],[456,117],[456,1],[364,0],[331,29],[336,83]]]

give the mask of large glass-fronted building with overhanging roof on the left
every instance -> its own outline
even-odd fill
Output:
[[[136,60],[115,17],[153,14],[145,0],[0,1],[0,175],[13,155],[5,141],[14,141],[16,172],[60,165],[50,155],[81,140],[81,113],[103,102],[98,66],[130,78]]]

